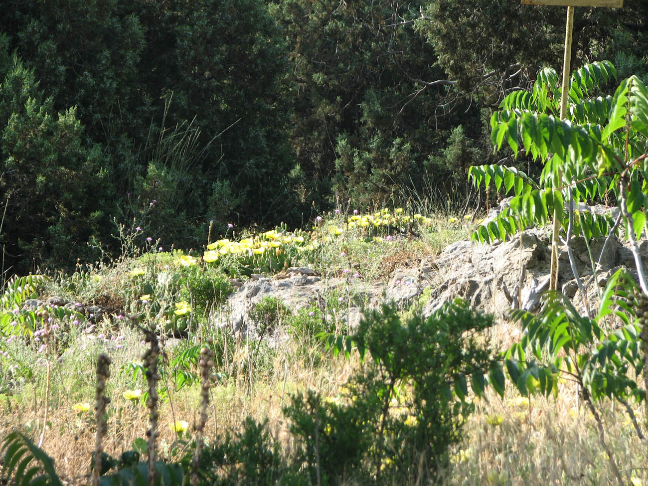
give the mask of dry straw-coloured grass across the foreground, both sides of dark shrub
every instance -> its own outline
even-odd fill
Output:
[[[500,323],[491,329],[491,338],[509,339],[515,334],[510,327]],[[130,347],[136,349],[135,335],[130,337]],[[136,358],[126,353],[118,355],[113,366],[108,389],[112,401],[106,437],[106,452],[113,456],[129,450],[133,440],[143,437],[146,430],[145,407],[122,397],[124,376],[116,371],[120,364]],[[281,439],[290,450],[291,438],[281,413],[288,395],[307,388],[334,395],[356,364],[354,360],[346,362],[337,358],[323,367],[312,368],[305,360],[295,359],[286,345],[275,356],[268,375],[253,386],[250,387],[248,378],[242,375],[238,380],[229,380],[213,389],[205,430],[207,440],[215,441],[217,435],[227,430],[236,431],[246,417],[253,417],[259,421],[267,419],[273,437]],[[56,460],[57,470],[67,483],[85,484],[93,450],[93,413],[76,413],[72,410],[75,402],[78,402],[78,395],[74,391],[67,396],[52,397],[43,448]],[[20,428],[39,435],[44,406],[40,391],[36,406],[27,395],[21,400],[5,397],[0,404],[0,434]],[[170,393],[170,399],[163,402],[160,410],[162,457],[172,459],[171,451],[179,445],[169,424],[178,420],[194,423],[199,410],[197,387]],[[643,444],[627,415],[612,402],[600,403],[599,411],[605,422],[607,440],[627,484],[647,484],[648,463]],[[645,416],[643,408],[636,413],[638,417]],[[605,485],[616,482],[597,437],[594,419],[584,410],[576,389],[568,383],[559,386],[556,397],[532,397],[528,402],[520,400],[513,389],[507,391],[504,400],[489,391],[487,399],[476,401],[476,411],[469,417],[464,432],[465,440],[456,448],[453,457],[454,467],[446,472],[448,486]]]

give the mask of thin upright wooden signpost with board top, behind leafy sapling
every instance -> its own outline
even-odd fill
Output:
[[[570,65],[572,62],[572,31],[573,9],[576,6],[608,6],[620,8],[623,0],[521,0],[522,5],[562,5],[567,6],[567,25],[565,27],[565,51],[562,60],[562,93],[561,93],[561,120],[567,118],[569,95]],[[559,174],[562,179],[562,174]],[[572,204],[572,201],[568,201]],[[551,235],[551,273],[549,277],[549,290],[558,288],[558,235],[561,224],[557,218],[557,211],[553,210],[553,231]]]

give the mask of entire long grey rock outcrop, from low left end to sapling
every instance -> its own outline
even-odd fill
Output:
[[[648,263],[647,246],[644,240],[644,264]],[[572,243],[572,251],[590,303],[596,303],[597,287],[605,286],[618,268],[633,272],[632,253],[617,238],[609,238],[605,248],[604,240],[592,242],[588,248],[583,238],[578,238]],[[597,262],[596,278],[590,254]],[[429,315],[444,302],[463,297],[474,307],[503,317],[511,308],[538,308],[540,295],[549,285],[550,259],[548,230],[531,229],[494,245],[453,243],[437,257],[425,257],[413,266],[397,268],[388,282],[367,283],[351,275],[325,279],[310,268],[290,268],[278,277],[254,275],[240,283],[214,317],[214,323],[242,332],[252,330],[249,310],[269,296],[281,299],[295,312],[332,295],[343,298],[345,305],[338,318],[352,327],[361,318],[362,308],[377,307],[384,301],[406,304],[416,300],[422,312]],[[559,286],[584,310],[565,248],[560,249],[559,260]]]

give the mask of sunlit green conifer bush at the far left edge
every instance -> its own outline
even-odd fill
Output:
[[[0,52],[6,56],[6,38]],[[113,211],[110,174],[86,142],[76,108],[56,112],[34,73],[14,54],[0,63],[0,251],[5,268],[34,262],[73,266],[92,258],[86,243],[104,233]]]

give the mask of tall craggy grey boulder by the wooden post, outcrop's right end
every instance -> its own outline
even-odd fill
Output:
[[[595,302],[597,286],[605,286],[607,278],[619,268],[632,273],[634,264],[629,248],[617,238],[610,238],[605,248],[603,240],[589,246],[588,249],[583,238],[579,238],[573,242],[572,251],[577,273],[586,288],[587,301]],[[643,242],[643,254],[646,254],[645,246]],[[597,262],[596,278],[590,251]],[[424,306],[424,313],[429,314],[441,303],[457,296],[499,317],[511,308],[535,310],[540,294],[549,286],[550,260],[550,235],[542,229],[524,231],[496,245],[456,242],[435,260],[437,286]],[[565,248],[559,249],[559,262],[559,288],[568,297],[575,297],[578,286]],[[576,304],[580,306],[581,301],[576,299]]]

